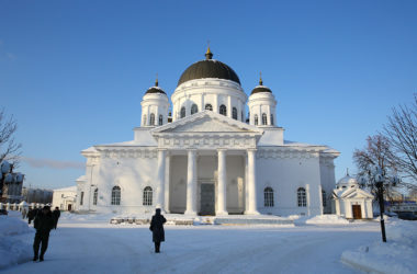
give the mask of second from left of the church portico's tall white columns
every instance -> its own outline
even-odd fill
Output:
[[[195,149],[188,151],[187,208],[185,215],[196,215],[196,164]]]

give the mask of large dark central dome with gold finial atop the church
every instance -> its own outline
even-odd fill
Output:
[[[226,64],[212,59],[213,54],[207,48],[205,54],[205,60],[194,62],[181,75],[178,85],[187,81],[204,78],[217,78],[237,82],[240,84],[240,80],[236,72]]]

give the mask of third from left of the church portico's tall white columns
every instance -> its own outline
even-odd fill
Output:
[[[226,150],[219,149],[218,152],[218,168],[217,168],[217,210],[216,216],[227,215],[226,210]]]

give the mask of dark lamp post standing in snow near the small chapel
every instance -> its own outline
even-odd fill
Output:
[[[373,165],[359,178],[359,183],[362,187],[370,186],[376,189],[376,197],[380,204],[382,241],[386,242],[384,222],[384,187],[397,185],[399,183],[399,179],[397,176],[387,176],[385,174],[385,169],[381,169],[379,165]]]

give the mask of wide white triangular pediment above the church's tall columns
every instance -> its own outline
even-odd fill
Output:
[[[260,136],[263,130],[224,115],[205,111],[154,128],[151,133],[154,135],[169,133],[248,133]]]

